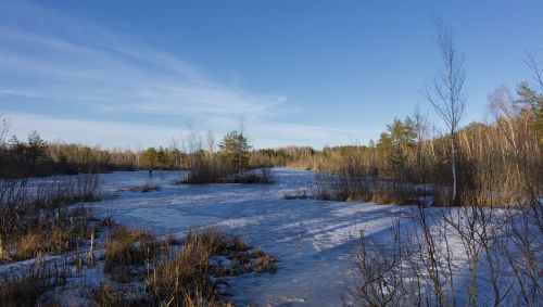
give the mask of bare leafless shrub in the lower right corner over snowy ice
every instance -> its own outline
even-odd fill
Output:
[[[541,232],[528,204],[408,210],[389,236],[361,234],[351,302],[362,306],[536,306]]]

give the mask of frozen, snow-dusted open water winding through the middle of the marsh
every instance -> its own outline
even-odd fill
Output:
[[[313,172],[274,169],[274,184],[179,186],[179,171],[155,171],[160,191],[115,192],[146,183],[147,171],[102,176],[114,196],[100,204],[104,215],[156,234],[218,226],[242,235],[278,259],[275,274],[229,280],[227,300],[262,306],[341,306],[353,263],[350,252],[359,230],[381,235],[405,207],[316,200],[283,200],[296,188],[312,188]]]

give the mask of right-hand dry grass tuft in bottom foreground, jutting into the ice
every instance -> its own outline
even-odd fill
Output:
[[[216,261],[217,256],[226,257],[230,265],[220,265]],[[217,305],[222,303],[217,278],[275,270],[276,259],[270,255],[252,251],[240,238],[207,228],[190,232],[174,258],[156,264],[148,282],[155,303]]]

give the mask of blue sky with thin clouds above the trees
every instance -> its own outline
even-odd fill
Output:
[[[440,67],[435,17],[465,54],[464,124],[543,60],[543,1],[0,0],[11,132],[140,149],[240,117],[256,148],[377,139]]]

